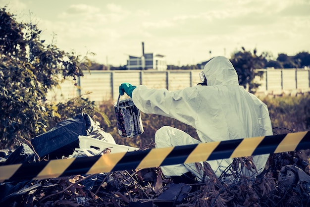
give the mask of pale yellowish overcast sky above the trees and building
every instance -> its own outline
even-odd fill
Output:
[[[0,0],[18,21],[38,23],[41,39],[96,62],[125,65],[128,55],[165,55],[187,65],[231,56],[310,51],[310,0]],[[211,54],[210,54],[211,52]]]

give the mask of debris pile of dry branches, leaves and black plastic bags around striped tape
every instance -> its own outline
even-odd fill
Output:
[[[79,121],[76,122],[77,120]],[[109,148],[79,149],[80,133],[82,136],[91,136],[95,139],[110,139],[108,133],[104,134],[105,132],[101,132],[92,124],[87,114],[79,114],[78,117],[66,121],[58,123],[52,131],[39,136],[40,140],[45,142],[43,145],[47,147],[46,149],[37,151],[36,148],[42,145],[37,141],[35,145],[24,143],[14,152],[8,149],[0,150],[0,165],[37,162],[51,157],[70,158],[112,153]],[[61,124],[62,127],[70,127],[70,130],[60,129]],[[85,127],[77,129],[77,124],[85,125]],[[64,135],[66,140],[50,136],[53,132]],[[52,142],[53,139],[59,142]],[[49,144],[46,145],[46,142]],[[115,145],[113,140],[110,139],[109,142]],[[58,147],[55,146],[56,144]],[[138,150],[150,148],[154,148],[154,143]],[[64,152],[67,154],[63,155]],[[240,173],[244,168],[256,170],[251,158],[243,157],[235,158],[220,177],[215,176],[207,162],[203,165],[197,163],[196,166],[204,172],[206,178],[204,182],[195,180],[193,183],[174,182],[172,178],[165,177],[159,167],[4,182],[0,183],[0,206],[310,206],[309,157],[309,150],[271,154],[264,171],[256,178],[245,177]]]

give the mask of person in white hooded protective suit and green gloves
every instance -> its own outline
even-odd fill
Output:
[[[141,111],[191,125],[200,139],[194,139],[179,129],[163,126],[155,133],[156,148],[272,135],[267,106],[239,86],[237,72],[229,59],[223,56],[212,58],[200,75],[203,84],[178,91],[148,89],[128,83],[120,85],[120,93],[126,92],[132,97]],[[254,156],[252,161],[258,172],[244,170],[244,175],[253,177],[261,173],[268,156]],[[227,158],[207,162],[219,177],[232,161],[232,158]],[[161,166],[161,170],[167,177],[181,176],[190,171],[199,181],[203,179],[195,163]]]

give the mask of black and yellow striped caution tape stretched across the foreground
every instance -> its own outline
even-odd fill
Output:
[[[4,165],[0,166],[0,182],[85,175],[306,149],[310,149],[310,132],[308,131],[92,157]]]

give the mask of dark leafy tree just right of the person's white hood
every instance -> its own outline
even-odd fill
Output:
[[[242,47],[242,51],[235,52],[232,54],[230,61],[235,67],[239,84],[244,86],[244,88],[249,87],[249,91],[255,93],[256,88],[259,84],[254,82],[256,75],[262,75],[262,72],[256,73],[254,69],[264,68],[269,54],[262,52],[260,55],[257,55],[257,50],[254,49],[253,53],[251,51],[246,51]]]

